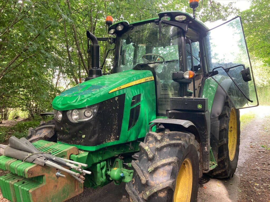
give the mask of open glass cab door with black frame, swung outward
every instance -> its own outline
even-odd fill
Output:
[[[229,20],[208,30],[205,35],[209,77],[221,86],[236,109],[258,106],[241,18]]]

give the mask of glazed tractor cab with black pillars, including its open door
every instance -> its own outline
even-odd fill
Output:
[[[223,89],[238,109],[258,104],[240,17],[209,30],[188,13],[161,12],[115,23],[108,33],[116,36],[112,73],[153,73],[157,116],[167,116],[170,97],[207,97],[205,81]]]

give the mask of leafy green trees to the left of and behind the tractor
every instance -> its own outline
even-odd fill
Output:
[[[85,33],[90,30],[97,37],[108,36],[107,15],[112,15],[115,22],[135,22],[169,10],[192,13],[187,0],[1,1],[0,114],[14,107],[31,116],[52,110],[53,97],[87,76],[91,60]],[[204,0],[197,11],[198,19],[213,21],[237,9],[232,4],[223,6]],[[114,45],[99,44],[102,64],[107,50]],[[111,71],[113,60],[111,52],[104,72]]]

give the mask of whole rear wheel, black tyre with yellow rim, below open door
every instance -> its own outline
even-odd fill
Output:
[[[217,178],[231,178],[235,173],[240,145],[240,113],[225,102],[220,121],[218,166],[208,174]]]

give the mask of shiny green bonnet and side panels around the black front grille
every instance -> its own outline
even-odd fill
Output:
[[[109,93],[109,91],[124,84],[151,76],[153,76],[151,71],[127,70],[83,82],[57,96],[52,103],[53,108],[57,110],[78,109],[97,104],[121,94],[125,94],[126,96],[122,128],[118,141],[106,142],[92,147],[82,145],[73,146],[85,151],[96,151],[111,145],[143,138],[148,132],[148,123],[156,118],[156,94],[153,90],[155,89],[154,80],[123,88],[112,93]],[[140,104],[141,106],[139,118],[135,126],[128,130],[131,109],[130,103],[132,97],[138,94],[141,94],[141,101],[138,103],[138,105]]]

